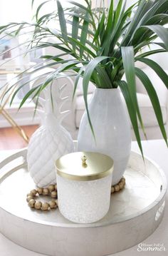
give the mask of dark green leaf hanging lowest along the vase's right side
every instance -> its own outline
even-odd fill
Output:
[[[137,143],[138,143],[140,151],[142,153],[142,157],[144,158],[142,144],[141,144],[141,138],[140,138],[140,132],[139,132],[138,123],[137,123],[137,113],[135,110],[135,106],[132,102],[132,97],[130,96],[130,90],[128,88],[129,86],[127,85],[127,83],[125,81],[117,81],[116,83],[120,87],[122,95],[125,98],[125,103],[127,104],[127,110],[128,110],[129,116],[130,116],[132,127],[135,132],[135,137],[137,138]]]

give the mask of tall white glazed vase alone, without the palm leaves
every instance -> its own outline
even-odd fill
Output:
[[[114,160],[112,185],[115,185],[125,172],[131,149],[130,121],[120,91],[97,88],[88,108],[95,139],[85,112],[80,122],[78,150],[109,155]]]

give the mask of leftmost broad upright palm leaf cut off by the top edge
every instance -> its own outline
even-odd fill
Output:
[[[66,21],[65,21],[63,7],[59,0],[56,0],[56,1],[57,1],[57,6],[58,6],[58,16],[59,16],[59,22],[60,22],[60,27],[61,27],[61,33],[62,33],[64,41],[67,42],[68,36],[67,36]]]

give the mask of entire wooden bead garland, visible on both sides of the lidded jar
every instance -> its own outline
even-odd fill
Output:
[[[119,192],[125,188],[125,178],[122,177],[119,183],[111,187],[111,193]],[[58,200],[51,200],[49,203],[41,201],[36,201],[36,195],[51,195],[51,198],[57,198],[57,185],[49,185],[48,188],[37,188],[31,190],[30,193],[27,194],[26,201],[28,202],[28,206],[30,208],[35,208],[36,210],[50,210],[56,209],[58,207]]]

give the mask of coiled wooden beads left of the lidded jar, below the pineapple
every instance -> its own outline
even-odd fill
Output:
[[[35,200],[36,195],[51,195],[51,198],[57,198],[57,187],[56,185],[49,185],[48,188],[37,188],[31,190],[27,194],[26,201],[30,208],[35,208],[36,210],[50,210],[56,209],[58,206],[58,200],[52,199],[49,203]]]

